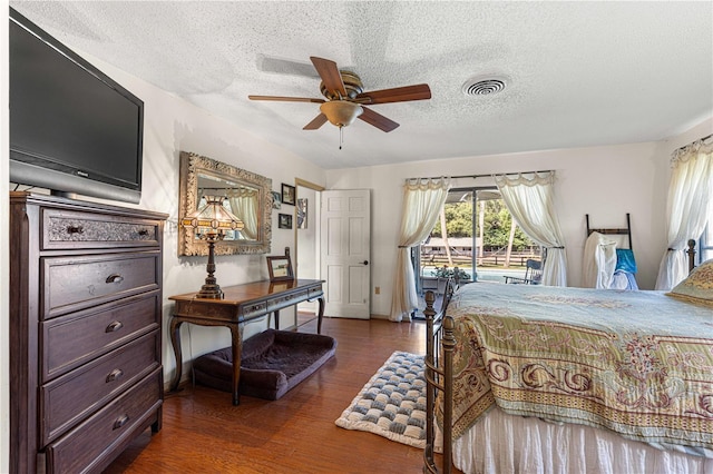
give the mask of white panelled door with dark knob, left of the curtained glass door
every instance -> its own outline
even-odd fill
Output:
[[[322,191],[321,276],[326,316],[369,319],[371,267],[369,189]]]

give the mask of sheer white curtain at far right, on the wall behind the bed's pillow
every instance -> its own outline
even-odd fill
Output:
[[[703,234],[711,215],[713,142],[699,140],[674,151],[666,219],[668,248],[658,266],[656,289],[671,289],[688,274],[684,251],[691,238]]]

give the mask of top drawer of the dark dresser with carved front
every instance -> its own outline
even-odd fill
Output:
[[[128,216],[42,209],[42,249],[158,247],[162,224]]]

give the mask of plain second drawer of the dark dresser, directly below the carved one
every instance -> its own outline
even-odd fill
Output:
[[[160,287],[160,251],[41,259],[45,319]]]

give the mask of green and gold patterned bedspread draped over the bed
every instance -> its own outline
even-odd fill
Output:
[[[453,436],[494,405],[713,450],[713,309],[662,292],[478,283],[456,322]]]

